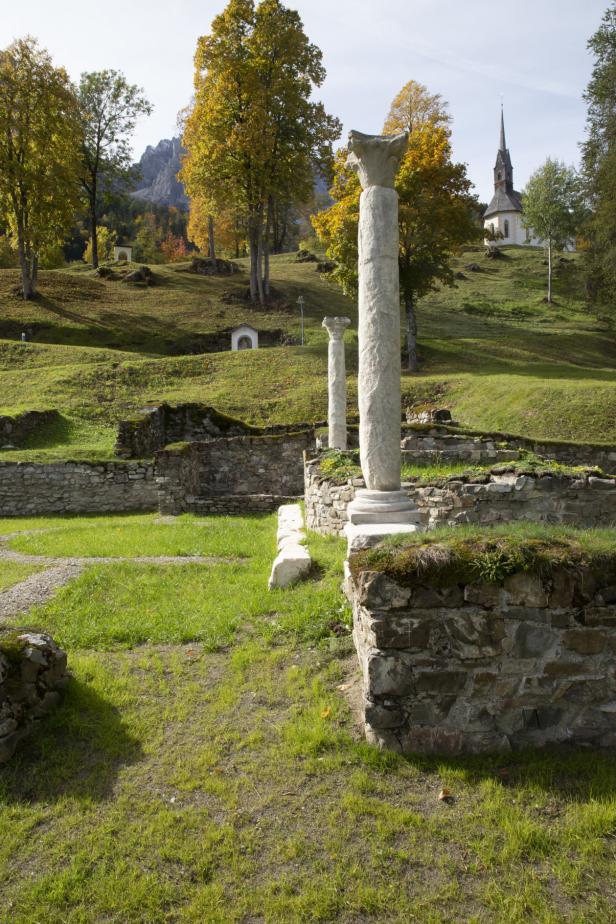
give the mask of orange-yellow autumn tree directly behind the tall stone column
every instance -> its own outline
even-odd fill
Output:
[[[454,285],[453,255],[479,240],[476,200],[464,164],[451,157],[450,117],[446,104],[426,87],[409,81],[394,100],[385,122],[387,133],[409,131],[409,145],[396,177],[400,225],[400,297],[406,317],[408,369],[417,370],[417,300],[439,285]],[[345,292],[357,291],[359,180],[336,157],[334,205],[313,216],[313,225],[335,261],[334,277]]]

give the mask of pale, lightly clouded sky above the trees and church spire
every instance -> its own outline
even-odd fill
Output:
[[[516,188],[547,156],[579,161],[592,66],[586,42],[609,0],[288,0],[323,51],[318,98],[349,129],[379,132],[413,78],[441,93],[454,156],[482,200],[492,194],[501,96]],[[193,54],[224,0],[0,0],[0,47],[34,35],[77,79],[115,68],[142,86],[154,113],[134,148],[177,134]]]

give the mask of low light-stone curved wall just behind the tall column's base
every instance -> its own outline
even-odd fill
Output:
[[[340,535],[346,508],[361,478],[335,484],[323,478],[318,459],[305,466],[306,522],[319,533]],[[441,486],[403,484],[417,504],[424,529],[459,523],[489,525],[533,520],[578,526],[616,524],[616,480],[593,475],[490,474],[476,481],[452,479]]]

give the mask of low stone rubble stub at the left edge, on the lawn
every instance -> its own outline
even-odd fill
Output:
[[[66,654],[49,635],[0,635],[0,764],[60,701],[68,682]]]

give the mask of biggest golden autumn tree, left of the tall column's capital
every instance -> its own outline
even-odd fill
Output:
[[[268,295],[276,203],[307,200],[340,134],[311,100],[324,78],[320,50],[280,0],[230,0],[198,41],[181,176],[191,198],[245,224],[253,301]]]

